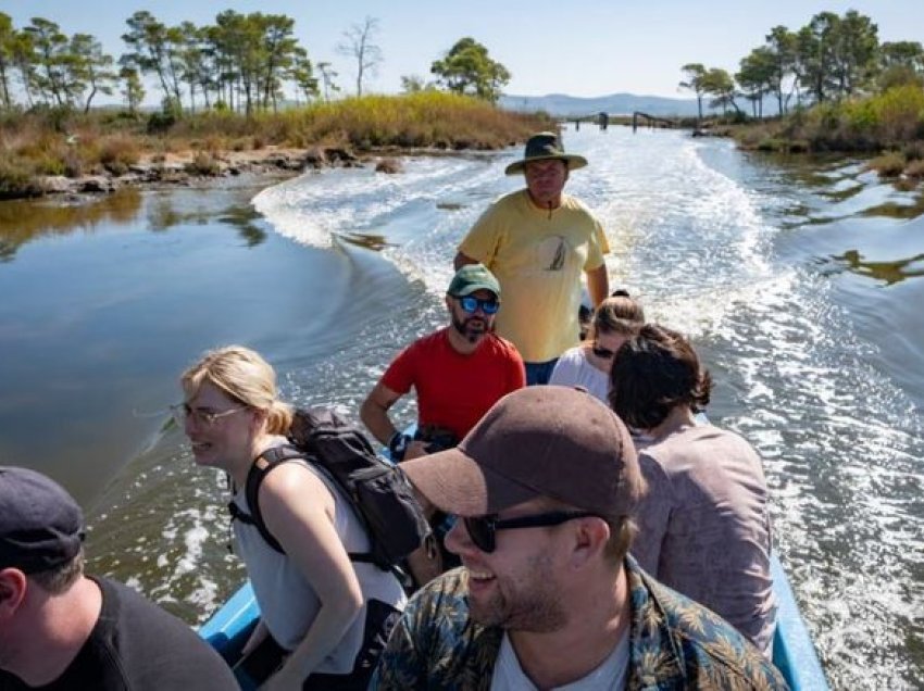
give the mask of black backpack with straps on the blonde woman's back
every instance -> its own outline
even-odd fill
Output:
[[[365,436],[337,413],[323,407],[296,411],[289,441],[291,445],[263,452],[251,466],[245,495],[253,513],[247,514],[234,502],[228,504],[232,520],[257,526],[274,550],[284,552],[263,523],[258,493],[270,470],[294,458],[320,468],[342,490],[365,524],[370,552],[350,553],[352,561],[391,570],[429,536],[429,524],[404,473],[379,458]]]

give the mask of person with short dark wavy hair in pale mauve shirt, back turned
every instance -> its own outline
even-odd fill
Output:
[[[760,456],[738,435],[697,424],[712,378],[677,331],[641,327],[620,350],[610,381],[612,409],[645,439],[636,444],[649,490],[633,554],[771,656],[776,600]]]

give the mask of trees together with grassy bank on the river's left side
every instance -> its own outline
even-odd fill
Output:
[[[0,197],[39,193],[39,176],[166,164],[172,152],[191,152],[182,156],[188,173],[216,175],[225,153],[269,146],[494,149],[551,126],[494,106],[510,73],[472,38],[433,63],[436,83],[413,77],[404,96],[364,95],[383,62],[378,21],[367,16],[337,46],[355,66],[357,96],[332,100],[337,73],[312,63],[289,16],[225,10],[213,24],[167,26],[137,11],[126,27],[116,60],[90,35],[41,17],[20,29],[0,12]],[[162,101],[142,114],[146,78]],[[116,92],[124,111],[92,110]]]

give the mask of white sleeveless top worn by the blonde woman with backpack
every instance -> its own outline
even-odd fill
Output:
[[[304,461],[289,463],[304,464],[330,490],[334,495],[334,527],[347,552],[367,552],[369,537],[362,523],[334,481]],[[233,501],[248,514],[253,513],[247,504],[244,488],[238,490]],[[232,525],[235,551],[247,566],[247,575],[266,628],[279,645],[289,651],[295,650],[317,616],[321,607],[317,595],[295,562],[271,548],[260,536],[257,526],[241,520],[234,520]],[[366,604],[370,600],[379,600],[398,610],[404,608],[404,591],[391,571],[382,570],[375,564],[352,562],[352,565],[362,589],[363,606],[344,638],[315,671],[349,674],[353,670],[357,654],[362,646]]]

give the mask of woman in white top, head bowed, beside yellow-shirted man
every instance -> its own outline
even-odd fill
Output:
[[[605,403],[613,357],[644,323],[641,305],[627,291],[614,291],[594,311],[585,341],[559,357],[549,384],[583,387]]]

